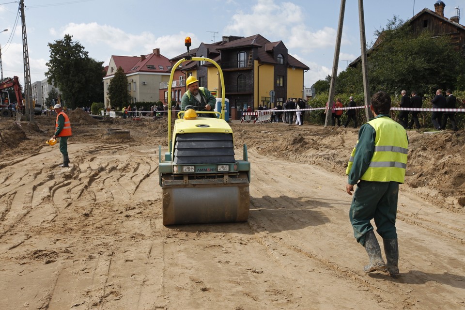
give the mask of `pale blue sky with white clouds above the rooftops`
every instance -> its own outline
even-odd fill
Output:
[[[1,1],[1,0],[0,0]],[[367,43],[393,16],[408,20],[423,8],[434,11],[436,0],[365,0]],[[465,10],[465,0],[443,0],[444,15]],[[340,0],[25,0],[31,81],[45,78],[48,43],[64,34],[85,47],[89,56],[109,63],[111,55],[140,56],[154,48],[172,58],[185,52],[184,38],[192,46],[219,41],[221,36],[261,34],[271,42],[283,41],[290,54],[310,67],[305,87],[332,71]],[[19,3],[0,3],[3,76],[18,76],[24,83]],[[465,11],[462,16],[464,16]],[[465,23],[464,19],[461,23]],[[360,55],[358,1],[347,0],[339,71]]]

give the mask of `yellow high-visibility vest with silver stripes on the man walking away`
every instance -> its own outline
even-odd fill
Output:
[[[405,129],[389,117],[375,118],[368,124],[376,132],[375,146],[369,167],[360,180],[404,183],[408,153]],[[349,174],[352,168],[357,144],[349,158],[346,174]]]

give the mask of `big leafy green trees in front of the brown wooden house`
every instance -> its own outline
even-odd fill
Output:
[[[375,31],[378,40],[368,55],[370,91],[399,94],[416,90],[432,94],[436,89],[461,89],[465,60],[454,50],[449,36],[434,37],[428,31],[414,35],[409,23],[394,16]],[[361,62],[338,76],[336,93],[363,92]]]

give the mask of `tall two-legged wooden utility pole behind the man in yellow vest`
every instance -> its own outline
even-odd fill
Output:
[[[326,111],[325,126],[328,125],[331,119],[331,110],[333,107],[334,94],[336,93],[336,78],[338,74],[339,53],[341,51],[342,24],[344,23],[345,0],[341,0],[341,12],[339,13],[338,34],[336,37],[336,48],[334,51],[333,72],[331,76],[331,84],[329,85],[328,109]],[[365,15],[363,13],[363,0],[358,0],[358,17],[360,24],[360,51],[362,60],[362,76],[363,76],[363,92],[365,96],[365,114],[367,121],[373,117],[370,105],[370,88],[368,85],[368,69],[367,69],[367,42],[365,37]]]

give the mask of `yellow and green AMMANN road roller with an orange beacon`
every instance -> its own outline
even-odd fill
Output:
[[[250,208],[247,145],[243,145],[242,159],[235,159],[233,130],[224,119],[223,72],[212,59],[188,56],[190,45],[191,39],[186,37],[187,56],[172,67],[168,94],[180,64],[210,62],[221,81],[221,112],[202,111],[200,117],[193,109],[179,111],[171,135],[168,105],[168,152],[163,158],[158,147],[163,225],[245,222]],[[216,117],[205,115],[208,113]]]

